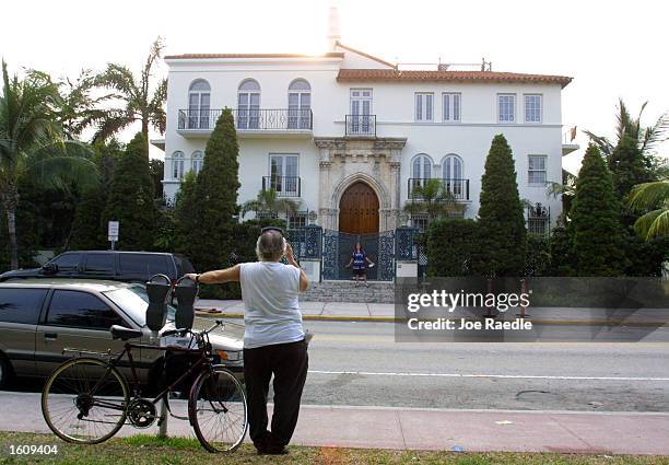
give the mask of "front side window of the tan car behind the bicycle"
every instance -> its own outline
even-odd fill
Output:
[[[54,292],[46,323],[89,329],[109,329],[111,325],[128,326],[118,313],[97,297],[64,290]]]

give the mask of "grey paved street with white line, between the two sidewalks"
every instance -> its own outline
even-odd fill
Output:
[[[307,404],[669,411],[668,328],[638,344],[398,344],[390,323],[305,325]]]

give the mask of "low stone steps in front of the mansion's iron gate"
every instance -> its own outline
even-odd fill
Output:
[[[355,286],[353,281],[312,282],[309,289],[300,295],[305,302],[357,302],[357,303],[392,303],[395,286],[392,282],[362,282]]]

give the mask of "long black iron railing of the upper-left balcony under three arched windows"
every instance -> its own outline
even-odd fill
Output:
[[[222,109],[179,109],[178,128],[181,130],[212,130]],[[238,130],[312,130],[314,115],[310,108],[237,108],[233,109]]]

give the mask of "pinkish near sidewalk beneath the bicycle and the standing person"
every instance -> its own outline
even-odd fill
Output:
[[[49,432],[39,394],[0,393],[0,430]],[[184,406],[175,406],[178,409]],[[124,427],[151,434],[156,427]],[[192,437],[171,419],[168,434]],[[293,444],[469,452],[559,452],[669,455],[669,414],[442,410],[303,406]],[[248,438],[247,438],[248,440]]]

